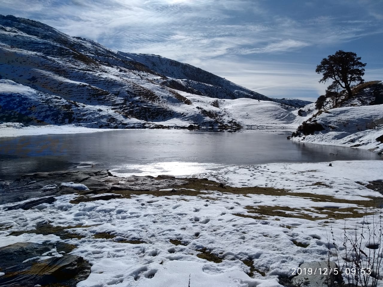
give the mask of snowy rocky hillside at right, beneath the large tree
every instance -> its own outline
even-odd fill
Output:
[[[322,97],[320,103],[309,104],[301,111],[313,115],[290,139],[383,153],[383,81],[354,86],[351,98],[346,91]]]

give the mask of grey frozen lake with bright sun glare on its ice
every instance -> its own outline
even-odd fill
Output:
[[[0,138],[0,179],[93,165],[118,175],[188,176],[228,165],[380,160],[366,150],[300,143],[286,135],[111,130]],[[330,155],[329,153],[338,155]]]

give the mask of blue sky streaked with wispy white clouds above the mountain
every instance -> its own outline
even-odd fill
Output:
[[[0,11],[274,98],[315,101],[329,85],[316,65],[340,49],[367,63],[366,81],[383,80],[381,0],[0,0]]]

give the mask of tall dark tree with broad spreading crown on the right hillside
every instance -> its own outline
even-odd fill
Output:
[[[316,66],[315,72],[322,74],[319,83],[327,80],[334,80],[333,84],[346,89],[349,97],[352,96],[351,83],[363,82],[365,63],[360,62],[360,57],[354,52],[337,51],[334,55],[329,55],[322,59],[321,64]]]

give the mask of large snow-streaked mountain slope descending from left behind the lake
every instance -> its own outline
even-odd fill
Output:
[[[0,122],[201,130],[281,123],[291,129],[295,109],[307,103],[268,98],[188,64],[113,51],[0,15]],[[249,105],[253,109],[242,113]],[[264,109],[275,117],[260,116]]]

